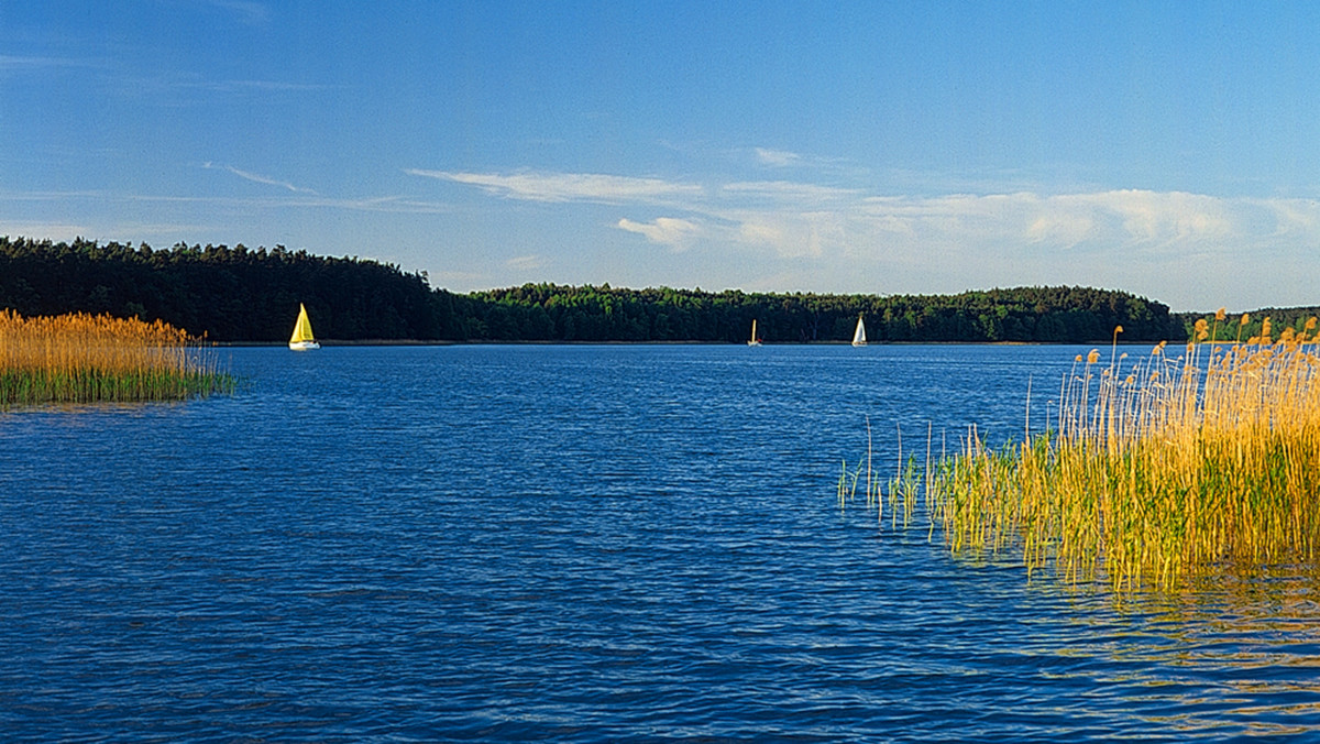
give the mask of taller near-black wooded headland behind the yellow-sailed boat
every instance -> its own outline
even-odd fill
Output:
[[[211,341],[281,341],[298,303],[326,338],[444,337],[425,276],[376,262],[282,246],[0,238],[0,307],[25,316],[110,313],[164,320]]]

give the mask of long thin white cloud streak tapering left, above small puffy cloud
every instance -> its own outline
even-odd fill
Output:
[[[478,186],[491,194],[546,202],[590,201],[602,204],[656,202],[676,197],[700,197],[702,188],[663,178],[638,178],[602,173],[454,173],[405,170],[412,176]]]

